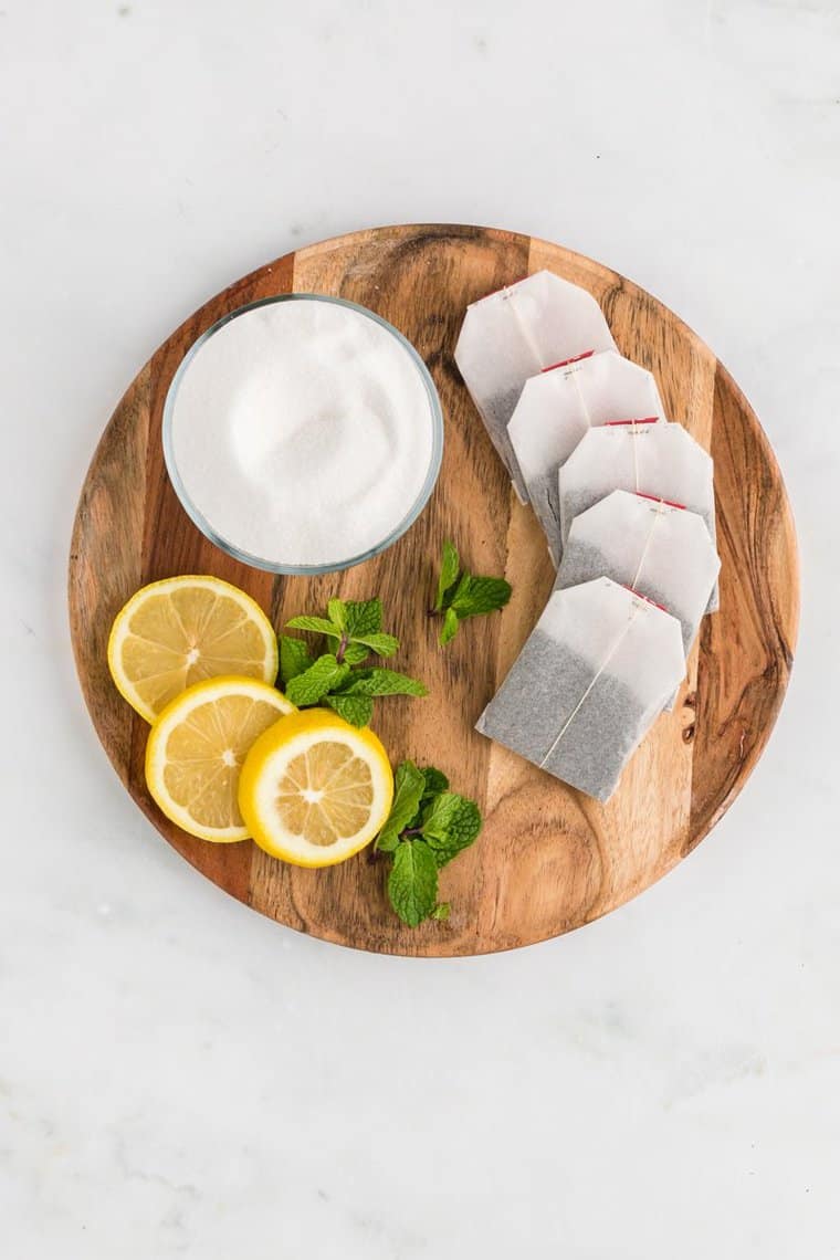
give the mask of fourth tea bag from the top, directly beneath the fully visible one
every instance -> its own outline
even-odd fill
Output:
[[[572,522],[555,590],[604,576],[631,586],[678,619],[688,656],[720,559],[695,512],[613,490]]]

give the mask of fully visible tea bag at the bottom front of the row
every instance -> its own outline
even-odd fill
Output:
[[[476,730],[608,800],[684,674],[679,621],[601,577],[554,591]]]

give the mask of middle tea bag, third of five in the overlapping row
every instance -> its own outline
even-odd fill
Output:
[[[712,457],[681,425],[610,423],[591,428],[559,471],[563,546],[572,522],[613,490],[676,503],[703,517],[715,541]],[[717,583],[709,612],[718,607]]]

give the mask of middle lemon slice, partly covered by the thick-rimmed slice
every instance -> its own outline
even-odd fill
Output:
[[[166,818],[201,840],[244,840],[237,790],[254,740],[295,707],[268,683],[209,678],[178,696],[151,728],[146,784]]]

